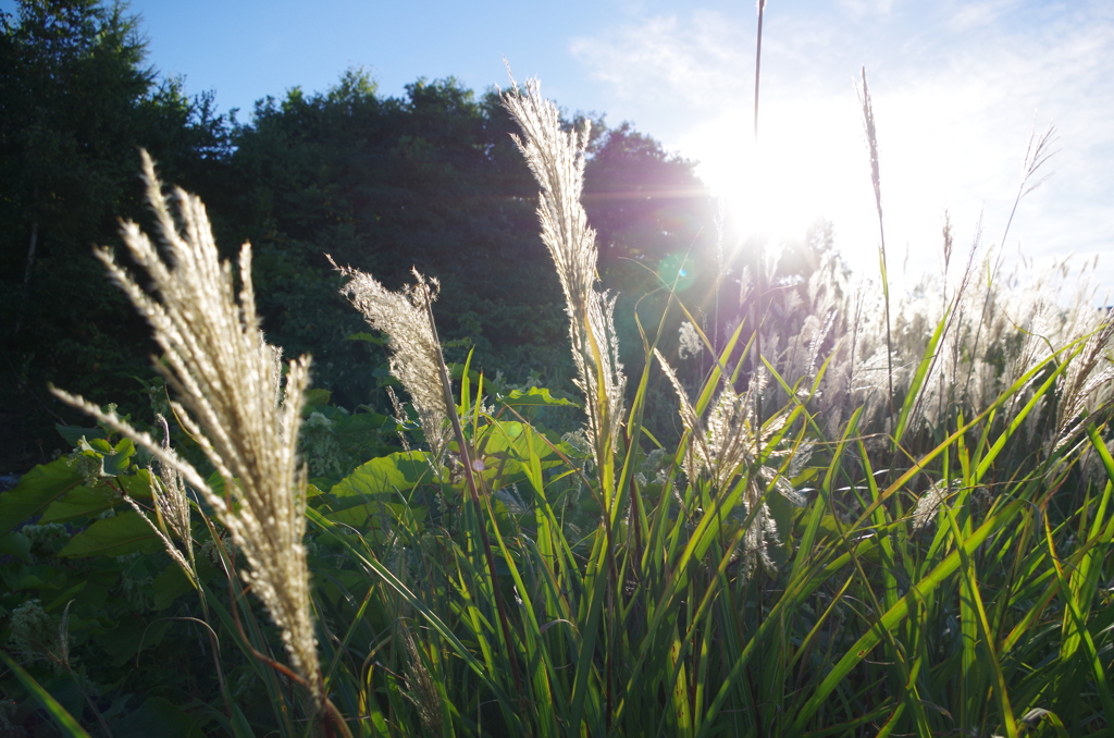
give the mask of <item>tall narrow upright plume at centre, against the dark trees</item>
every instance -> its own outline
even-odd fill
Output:
[[[588,438],[603,467],[605,444],[614,448],[618,440],[626,378],[618,361],[615,298],[595,288],[596,232],[588,226],[580,204],[590,124],[585,122],[579,133],[564,130],[557,106],[541,97],[536,79],[526,82],[525,91],[516,85],[502,101],[522,129],[521,137],[512,138],[541,187],[541,241],[554,259],[565,292],[577,371],[575,383],[584,392]]]

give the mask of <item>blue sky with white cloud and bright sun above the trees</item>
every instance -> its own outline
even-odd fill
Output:
[[[10,0],[0,0],[10,8]],[[999,243],[1030,132],[1056,126],[1054,176],[1006,240],[1038,266],[1102,254],[1114,287],[1114,3],[1038,0],[769,0],[762,124],[752,145],[753,1],[134,0],[150,62],[222,109],[324,90],[349,67],[401,95],[418,77],[482,90],[536,76],[570,111],[633,122],[768,227],[814,215],[857,265],[877,223],[853,81],[864,65],[881,147],[891,264]],[[892,269],[892,266],[891,266]]]

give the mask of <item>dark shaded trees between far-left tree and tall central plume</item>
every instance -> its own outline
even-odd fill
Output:
[[[359,70],[322,94],[262,100],[235,129],[231,235],[255,246],[265,328],[313,352],[315,381],[342,401],[368,401],[374,382],[362,347],[343,342],[365,328],[325,253],[391,288],[412,268],[440,279],[442,336],[473,344],[489,372],[559,361],[560,292],[508,130],[495,95],[449,79],[384,98]]]

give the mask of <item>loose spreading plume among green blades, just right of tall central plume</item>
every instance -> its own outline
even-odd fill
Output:
[[[763,499],[763,487],[772,484],[773,489],[785,499],[803,505],[804,497],[793,488],[786,476],[792,477],[800,472],[799,467],[808,460],[811,447],[802,447],[797,453],[791,449],[769,451],[770,458],[793,457],[788,475],[779,474],[773,467],[761,466],[758,449],[764,447],[785,425],[783,415],[768,420],[765,427],[758,423],[755,397],[763,389],[764,376],[755,376],[752,388],[742,395],[724,379],[719,396],[702,420],[665,357],[657,349],[654,349],[654,356],[681,400],[681,423],[690,435],[685,455],[685,474],[690,483],[695,483],[701,474],[707,474],[713,488],[726,493],[736,477],[746,477],[743,504],[751,518],[744,540],[746,571],[751,571],[758,560],[768,571],[773,571],[775,566],[768,545],[778,543],[778,525]]]

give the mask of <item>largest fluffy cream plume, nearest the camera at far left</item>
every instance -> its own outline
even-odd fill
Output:
[[[179,398],[170,406],[224,477],[225,495],[214,493],[173,449],[163,448],[115,412],[60,390],[55,394],[144,446],[205,497],[247,560],[242,575],[280,628],[291,666],[320,699],[310,571],[302,543],[306,478],[296,457],[310,359],[289,365],[278,401],[277,355],[261,339],[255,313],[251,245],[245,243],[240,252],[237,294],[232,264],[219,258],[201,200],[182,190],[164,197],[146,152],[143,169],[168,261],[130,222],[123,226],[124,242],[146,272],[149,292],[116,263],[111,251],[96,253],[154,328],[167,363],[156,367]],[[173,214],[172,201],[177,205]]]

